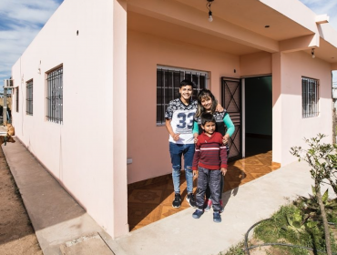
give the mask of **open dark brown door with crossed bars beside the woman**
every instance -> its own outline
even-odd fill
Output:
[[[241,83],[238,78],[221,77],[221,105],[230,114],[235,131],[230,138],[230,160],[242,158],[241,153]]]

